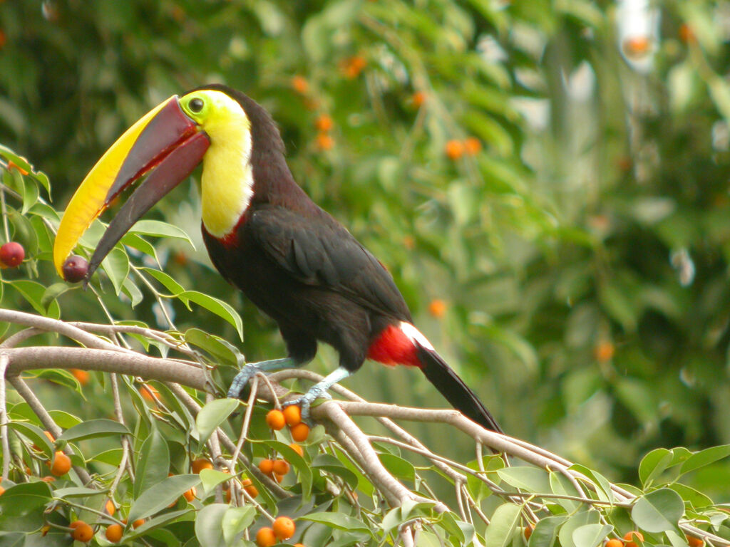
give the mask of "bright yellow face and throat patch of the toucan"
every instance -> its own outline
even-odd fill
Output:
[[[203,158],[203,224],[215,237],[231,233],[253,195],[251,123],[241,105],[221,91],[199,90],[180,107],[210,138]]]

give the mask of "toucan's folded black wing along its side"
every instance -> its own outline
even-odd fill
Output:
[[[397,319],[410,312],[393,277],[337,220],[321,209],[302,215],[278,206],[255,209],[245,230],[299,282],[326,287]]]

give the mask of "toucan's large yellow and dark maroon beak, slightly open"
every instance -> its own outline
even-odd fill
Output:
[[[144,175],[142,185],[110,222],[89,262],[86,279],[150,207],[185,180],[201,162],[210,139],[180,108],[177,96],[155,106],[101,156],[71,198],[53,247],[53,263],[63,276],[64,261],[96,217]]]

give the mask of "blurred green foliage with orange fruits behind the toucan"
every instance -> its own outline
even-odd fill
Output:
[[[634,480],[650,449],[730,442],[728,15],[704,0],[659,15],[642,50],[611,2],[4,1],[0,143],[50,176],[63,209],[151,106],[205,82],[245,91],[280,124],[299,183],[388,265],[504,429]],[[469,137],[478,150],[449,144]],[[194,186],[150,215],[196,241],[166,242],[165,271],[242,311],[250,360],[283,354],[210,271]],[[107,321],[89,293],[58,303],[63,319]],[[30,309],[12,291],[2,305]],[[152,298],[108,306],[168,326]],[[170,306],[180,330],[201,322]],[[445,406],[409,371],[361,374],[351,385],[370,400]],[[696,486],[723,492],[730,468],[714,473]]]

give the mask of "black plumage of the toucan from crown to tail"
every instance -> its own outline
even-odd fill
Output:
[[[350,232],[296,184],[269,113],[251,98],[221,85],[206,86],[234,98],[251,125],[253,197],[233,233],[217,238],[203,226],[213,264],[268,314],[290,356],[307,362],[317,341],[356,371],[390,327],[412,322],[393,277]],[[415,330],[415,327],[413,327]],[[478,397],[433,349],[410,341],[412,360],[447,400],[489,429],[499,424]]]

